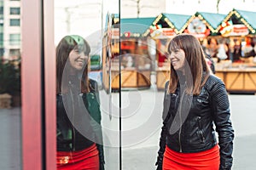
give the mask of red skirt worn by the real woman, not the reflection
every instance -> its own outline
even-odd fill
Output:
[[[212,149],[196,153],[180,153],[166,145],[163,170],[218,170],[219,148],[216,144]]]

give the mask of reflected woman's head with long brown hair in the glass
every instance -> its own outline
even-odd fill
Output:
[[[90,60],[88,56],[90,56],[90,45],[83,37],[69,35],[61,39],[56,47],[57,94],[67,92],[68,81],[73,76],[81,80],[82,93],[90,91],[88,85]]]

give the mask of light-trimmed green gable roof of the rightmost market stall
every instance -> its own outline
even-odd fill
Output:
[[[247,26],[250,34],[256,34],[256,12],[233,8],[233,10],[231,10],[230,13],[226,15],[223,22],[230,20],[233,15],[236,15],[237,19],[241,20],[241,23]],[[218,29],[220,28],[221,26],[219,26]]]

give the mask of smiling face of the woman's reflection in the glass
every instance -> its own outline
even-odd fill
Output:
[[[84,65],[87,64],[88,56],[84,54],[84,51],[79,51],[78,48],[73,48],[68,56],[70,65],[73,71],[81,71]]]

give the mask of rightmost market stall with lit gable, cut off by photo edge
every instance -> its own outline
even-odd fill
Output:
[[[236,47],[239,49],[239,53],[233,53],[230,60],[217,64],[216,75],[224,81],[230,93],[256,93],[256,56],[250,53],[256,42],[255,18],[255,12],[233,9],[218,27],[222,37],[228,38],[230,44],[233,42],[235,50]],[[234,47],[230,45],[229,48]]]

